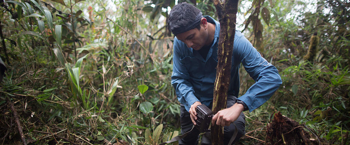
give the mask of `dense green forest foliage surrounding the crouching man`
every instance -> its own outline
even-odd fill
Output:
[[[182,1],[1,1],[0,57],[8,69],[1,143],[22,144],[10,102],[28,143],[135,145],[176,136],[166,19]],[[217,18],[212,0],[187,2]],[[237,29],[283,81],[268,102],[245,112],[239,144],[263,144],[275,110],[318,142],[349,144],[350,1],[241,0],[238,11]],[[254,81],[243,67],[240,79],[242,95]]]

